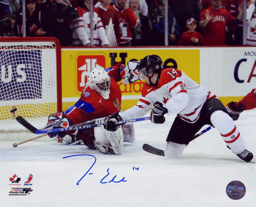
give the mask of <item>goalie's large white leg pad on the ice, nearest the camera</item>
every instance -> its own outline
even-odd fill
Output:
[[[103,127],[94,128],[95,146],[103,153],[121,155],[124,146],[122,128],[115,132],[107,131]]]

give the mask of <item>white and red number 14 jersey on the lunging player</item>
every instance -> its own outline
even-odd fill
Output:
[[[123,120],[143,117],[159,101],[168,109],[168,115],[177,114],[184,121],[193,123],[209,98],[216,98],[216,95],[184,72],[168,68],[161,71],[157,86],[144,83],[137,105],[119,115]]]

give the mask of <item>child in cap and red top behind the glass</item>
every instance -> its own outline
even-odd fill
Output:
[[[201,33],[195,31],[195,28],[197,27],[196,20],[194,18],[188,19],[186,26],[188,28],[188,31],[183,32],[178,42],[178,45],[183,45],[183,46],[204,45],[204,39]]]

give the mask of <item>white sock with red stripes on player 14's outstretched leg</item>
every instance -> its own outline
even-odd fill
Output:
[[[223,111],[215,111],[210,116],[212,125],[221,133],[222,138],[234,154],[244,151],[243,138],[233,122],[233,119]]]

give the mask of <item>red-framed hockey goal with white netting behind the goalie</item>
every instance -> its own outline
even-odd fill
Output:
[[[0,37],[0,133],[37,128],[62,110],[61,45],[55,37]]]

